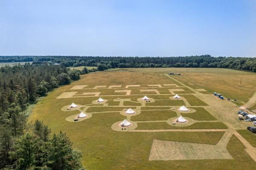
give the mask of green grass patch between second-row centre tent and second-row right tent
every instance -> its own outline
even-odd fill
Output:
[[[172,110],[142,110],[140,115],[132,116],[132,121],[162,121],[177,116]]]

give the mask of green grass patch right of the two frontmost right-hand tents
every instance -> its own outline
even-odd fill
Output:
[[[195,119],[197,121],[214,121],[217,120],[206,109],[202,107],[193,107],[196,109],[194,113],[181,113],[182,116]]]

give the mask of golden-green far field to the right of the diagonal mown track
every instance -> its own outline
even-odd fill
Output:
[[[221,93],[225,98],[236,99],[236,104],[247,102],[256,90],[256,74],[231,69],[190,69],[182,76],[174,77],[193,89],[205,89],[208,93]],[[242,85],[240,81],[242,78]]]

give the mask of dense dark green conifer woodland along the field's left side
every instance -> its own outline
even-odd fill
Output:
[[[86,73],[86,68],[71,70],[47,62],[0,68],[0,169],[80,168],[81,154],[72,150],[67,136],[63,133],[49,135],[49,130],[41,122],[30,127],[26,123],[26,108],[48,91],[70,84]]]

